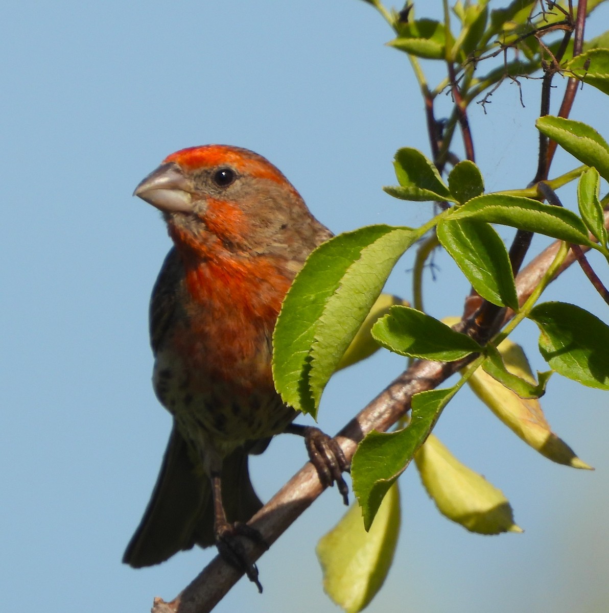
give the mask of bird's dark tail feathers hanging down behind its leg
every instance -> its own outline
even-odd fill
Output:
[[[222,497],[231,522],[247,522],[262,506],[250,482],[247,451],[243,447],[224,459]],[[151,566],[182,549],[191,549],[194,544],[207,547],[214,542],[209,479],[196,470],[174,425],[155,489],[124,552],[123,562],[134,568]]]

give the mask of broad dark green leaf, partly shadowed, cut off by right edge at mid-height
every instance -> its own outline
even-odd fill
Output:
[[[539,350],[557,373],[609,389],[609,327],[583,308],[544,302],[529,314],[541,332]]]

